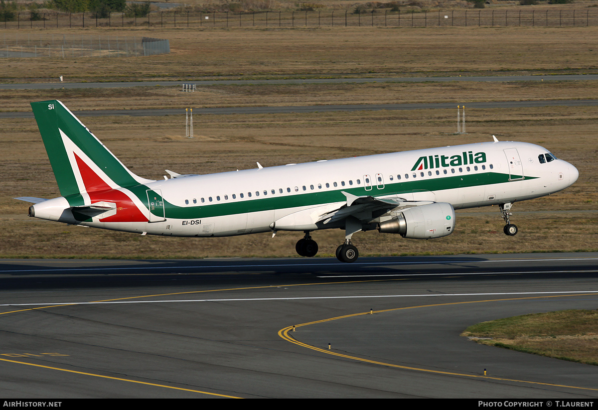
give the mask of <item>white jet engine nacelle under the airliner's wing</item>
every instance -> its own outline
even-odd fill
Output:
[[[404,238],[430,239],[450,235],[454,230],[454,208],[446,202],[402,210],[396,218],[380,222],[378,231]]]

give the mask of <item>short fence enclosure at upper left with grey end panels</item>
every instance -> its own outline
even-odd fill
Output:
[[[170,53],[168,40],[150,37],[3,33],[0,57],[138,57]]]

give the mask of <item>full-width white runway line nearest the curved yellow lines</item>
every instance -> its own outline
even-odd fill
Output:
[[[59,305],[116,305],[116,304],[137,304],[137,303],[181,303],[181,302],[250,302],[250,301],[299,301],[309,299],[364,299],[364,298],[416,298],[422,296],[511,296],[511,295],[562,295],[562,294],[583,293],[585,295],[597,295],[598,290],[569,290],[560,292],[499,292],[499,293],[425,293],[423,295],[370,295],[370,296],[313,296],[297,298],[235,298],[235,299],[181,299],[167,301],[100,301],[100,302],[57,302],[57,303],[20,303],[0,304],[0,306],[59,306]]]

